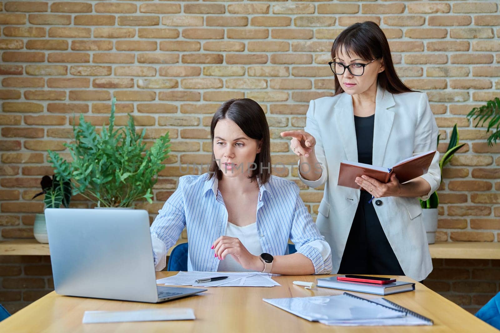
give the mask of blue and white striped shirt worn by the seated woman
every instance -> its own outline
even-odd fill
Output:
[[[158,211],[150,231],[154,266],[165,267],[166,251],[187,229],[189,271],[216,272],[219,260],[210,250],[212,243],[225,235],[227,210],[218,190],[216,177],[208,174],[179,178],[177,190]],[[273,256],[288,254],[288,239],[297,250],[309,258],[315,274],[331,272],[331,252],[328,243],[299,196],[297,185],[271,176],[259,187],[256,226],[265,253]]]

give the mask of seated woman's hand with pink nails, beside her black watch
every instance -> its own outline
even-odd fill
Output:
[[[215,251],[215,257],[220,260],[224,260],[227,255],[231,255],[246,270],[260,271],[263,269],[264,265],[260,259],[249,253],[237,238],[220,236],[213,242],[212,249]],[[260,268],[260,266],[262,267]]]

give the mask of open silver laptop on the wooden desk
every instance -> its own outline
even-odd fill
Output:
[[[149,216],[138,209],[45,209],[55,292],[159,303],[206,289],[156,286]]]

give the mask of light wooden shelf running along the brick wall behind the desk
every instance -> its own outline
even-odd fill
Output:
[[[171,247],[185,243],[178,240]],[[497,242],[438,242],[429,245],[430,257],[446,259],[500,259],[500,243]],[[34,239],[19,239],[13,241],[0,241],[0,256],[48,256],[48,244],[38,243]]]

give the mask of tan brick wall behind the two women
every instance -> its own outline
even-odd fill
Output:
[[[148,141],[170,132],[172,153],[155,201],[138,205],[151,218],[175,189],[179,165],[209,159],[211,114],[233,97],[262,105],[272,162],[289,164],[279,175],[297,182],[315,216],[321,189],[297,180],[296,158],[279,132],[303,128],[308,101],[332,95],[326,62],[335,36],[373,20],[398,74],[428,94],[439,150],[454,123],[466,142],[443,172],[437,240],[496,242],[500,145],[487,147],[485,130],[465,118],[500,95],[496,2],[0,1],[0,239],[32,238],[43,204],[30,198],[51,173],[46,150],[67,156],[62,143],[73,114],[101,125],[113,96],[118,124],[130,112]],[[90,207],[81,199],[72,206]],[[0,302],[15,311],[50,290],[46,260],[0,256]],[[436,261],[429,285],[473,311],[498,291],[495,263]],[[489,282],[478,270],[489,272]]]

